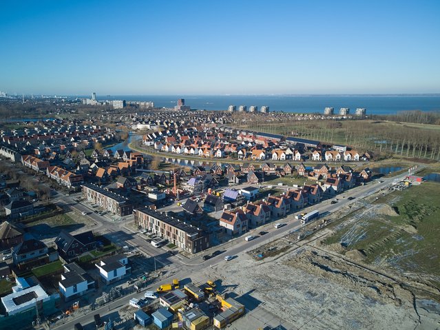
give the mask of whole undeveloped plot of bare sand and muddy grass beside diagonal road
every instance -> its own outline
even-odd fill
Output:
[[[438,329],[440,185],[399,187],[206,269],[249,297],[232,329]]]

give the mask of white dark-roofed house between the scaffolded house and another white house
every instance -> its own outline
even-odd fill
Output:
[[[65,300],[83,296],[90,289],[94,289],[95,281],[84,269],[76,265],[76,262],[64,265],[64,271],[58,286]]]

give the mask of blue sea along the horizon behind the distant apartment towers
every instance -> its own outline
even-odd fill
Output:
[[[88,96],[90,97],[90,96]],[[227,110],[229,105],[269,106],[271,112],[323,113],[324,107],[350,108],[354,114],[358,107],[366,114],[396,114],[404,110],[440,112],[440,94],[362,94],[362,95],[116,95],[98,96],[99,100],[153,101],[155,107],[174,107],[177,99],[197,110]]]

